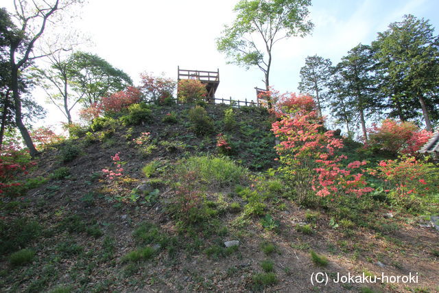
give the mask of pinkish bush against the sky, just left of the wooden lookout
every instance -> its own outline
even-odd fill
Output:
[[[145,97],[152,101],[163,103],[166,98],[172,97],[172,93],[176,89],[176,82],[171,78],[156,77],[152,73],[142,73],[140,78],[141,91],[145,94]]]

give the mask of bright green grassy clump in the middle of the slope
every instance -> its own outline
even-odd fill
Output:
[[[231,186],[245,180],[248,170],[226,156],[191,156],[177,167],[178,174],[195,174],[204,185]]]

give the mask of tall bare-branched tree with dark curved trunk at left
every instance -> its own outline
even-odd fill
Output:
[[[36,156],[38,152],[23,123],[23,101],[19,91],[19,72],[32,60],[43,57],[43,55],[34,54],[34,47],[38,39],[43,36],[51,19],[58,12],[78,1],[80,0],[14,0],[15,25],[8,31],[8,39],[10,40],[10,89],[14,101],[15,123],[31,156]]]

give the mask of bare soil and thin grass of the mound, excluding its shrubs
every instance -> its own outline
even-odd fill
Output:
[[[178,123],[163,123],[161,119],[171,110],[177,113]],[[2,250],[1,290],[235,292],[265,288],[285,292],[358,292],[363,287],[331,282],[326,287],[311,285],[311,273],[320,271],[328,272],[330,277],[337,272],[418,272],[418,284],[368,287],[377,292],[439,290],[436,231],[420,228],[418,219],[410,215],[383,218],[386,211],[379,204],[356,211],[338,209],[344,214],[336,215],[339,227],[331,228],[333,213],[298,207],[289,198],[288,190],[278,185],[278,179],[257,173],[257,169],[273,166],[274,138],[269,132],[269,117],[257,110],[238,111],[237,127],[226,132],[221,121],[223,110],[208,108],[217,123],[205,137],[197,137],[189,129],[187,109],[164,107],[154,109],[151,124],[131,130],[117,125],[114,134],[108,129],[102,130],[108,133],[106,136],[96,132],[98,141],[73,141],[73,145],[81,145],[83,152],[69,163],[60,163],[62,146],[47,150],[32,176],[49,178],[59,167],[69,167],[70,175],[51,178],[22,198],[2,204],[3,242],[11,240],[20,247],[12,245]],[[142,154],[131,142],[141,132],[152,134],[156,149],[151,154]],[[215,154],[215,134],[219,132],[233,137],[233,159],[252,169],[254,175],[239,180],[242,187],[238,189],[235,184],[195,182],[209,200],[206,206],[210,214],[195,224],[181,224],[169,209],[175,198],[174,183],[180,179],[174,169],[181,167],[182,158]],[[169,143],[163,141],[181,143],[169,148]],[[116,152],[126,162],[119,184],[107,180],[101,171],[110,167],[111,156]],[[159,162],[158,169],[145,178],[141,169],[154,160]],[[252,181],[255,178],[257,181]],[[159,190],[158,197],[153,192],[146,194],[145,200],[142,197],[130,202],[132,190],[145,182]],[[242,198],[244,187],[261,194],[266,204],[261,216],[242,217],[248,202]],[[270,217],[261,221],[266,214]],[[296,228],[300,222],[309,224],[308,229]],[[231,239],[241,242],[237,249],[223,247],[222,242]],[[145,249],[153,246],[153,250]],[[29,263],[13,266],[9,261],[11,253],[24,247],[31,248],[34,257]],[[314,264],[309,250],[327,257],[327,266]],[[261,265],[265,260],[268,261]]]

